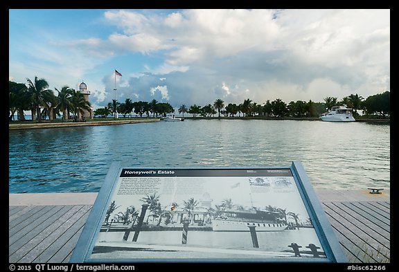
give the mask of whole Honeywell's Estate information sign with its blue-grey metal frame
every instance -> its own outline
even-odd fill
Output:
[[[300,162],[113,163],[70,262],[346,262]]]

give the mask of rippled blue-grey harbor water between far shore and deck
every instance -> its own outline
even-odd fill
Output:
[[[9,192],[98,192],[130,168],[289,167],[314,188],[389,188],[390,125],[192,120],[9,131]]]

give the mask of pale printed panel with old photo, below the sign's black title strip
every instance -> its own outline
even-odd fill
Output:
[[[326,256],[292,176],[134,176],[119,178],[91,253],[131,257]]]

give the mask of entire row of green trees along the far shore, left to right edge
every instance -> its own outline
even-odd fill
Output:
[[[65,85],[60,90],[55,88],[55,92],[48,89],[48,82],[43,78],[35,77],[35,80],[27,78],[27,84],[9,81],[9,120],[14,120],[17,112],[18,120],[25,120],[24,111],[32,112],[32,120],[37,119],[40,122],[48,117],[53,120],[56,116],[61,116],[62,120],[69,118],[70,114],[74,117],[82,116],[85,110],[91,110],[90,102],[85,101],[82,93]],[[218,117],[245,117],[245,116],[267,116],[267,117],[319,117],[321,114],[329,111],[334,106],[346,105],[353,109],[353,115],[358,116],[357,111],[362,111],[366,116],[382,116],[391,115],[390,108],[390,91],[378,93],[364,99],[358,94],[351,94],[342,100],[336,97],[326,97],[324,102],[308,102],[297,100],[288,104],[281,99],[273,101],[267,100],[263,105],[252,100],[245,99],[242,103],[227,104],[222,99],[217,99],[213,104],[209,103],[204,106],[200,105],[181,105],[177,111],[179,114],[192,114],[193,118],[197,116],[211,117],[218,114]],[[106,107],[96,109],[94,116],[106,117],[111,114],[122,114],[124,117],[136,116],[158,117],[175,113],[175,109],[168,102],[158,102],[152,100],[135,101],[127,98],[125,102],[112,100]]]

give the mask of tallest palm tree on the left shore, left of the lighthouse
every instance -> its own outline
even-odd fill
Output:
[[[26,79],[28,81],[28,91],[32,102],[32,120],[33,116],[37,116],[37,121],[41,122],[40,107],[46,107],[48,98],[53,95],[53,91],[48,89],[48,82],[44,78],[35,77],[35,82]]]

